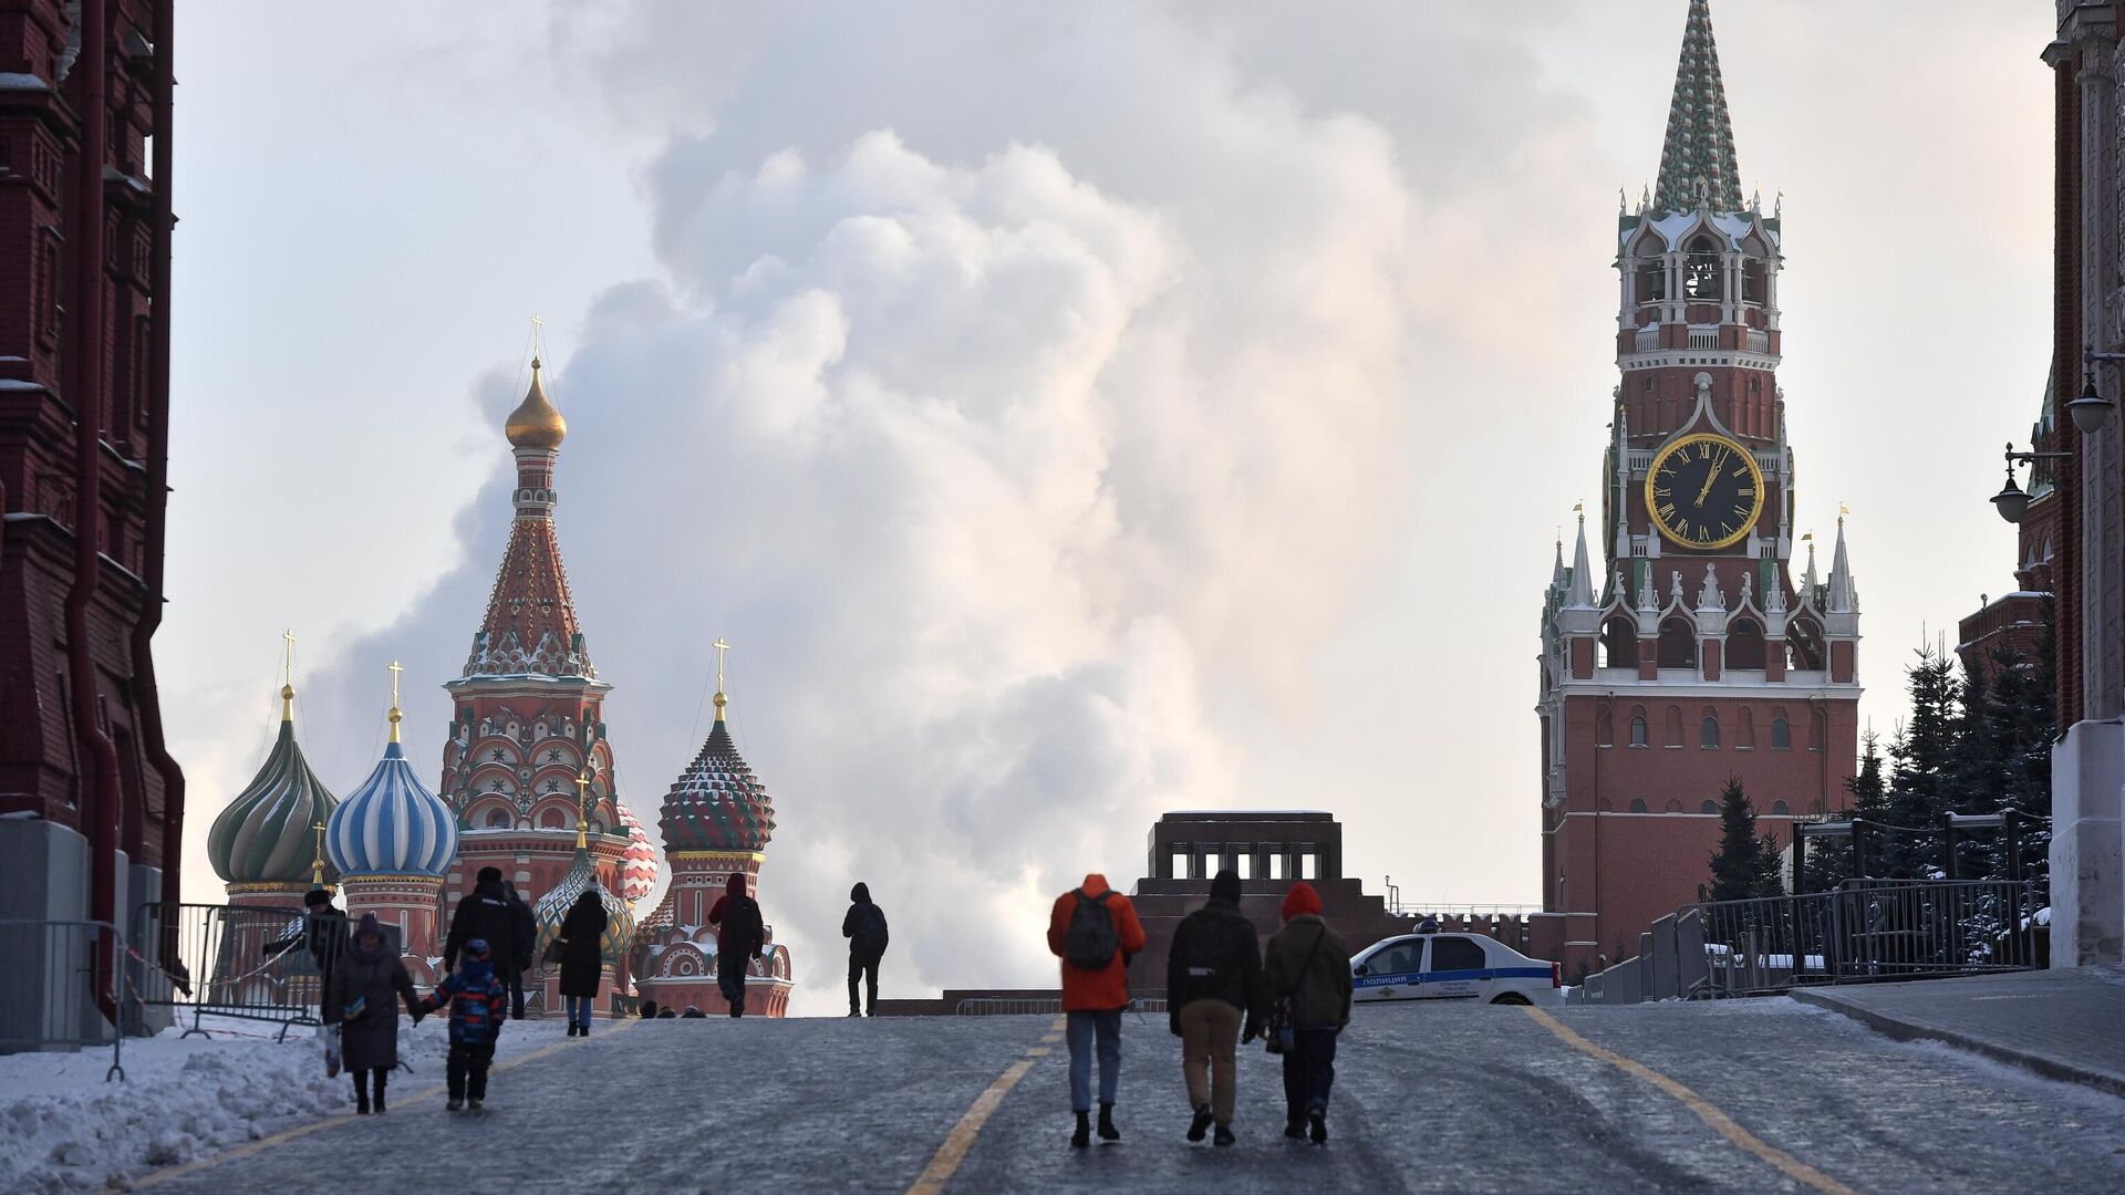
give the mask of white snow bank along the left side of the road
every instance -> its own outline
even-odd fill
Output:
[[[187,1019],[189,1023],[189,1019]],[[125,1042],[125,1080],[104,1082],[110,1050],[0,1055],[0,1191],[98,1191],[113,1180],[221,1152],[304,1121],[351,1112],[346,1076],[325,1078],[317,1029],[208,1016],[210,1038],[166,1029]],[[510,1021],[495,1061],[563,1036],[563,1021]],[[442,1082],[444,1016],[400,1021],[395,1099]]]

